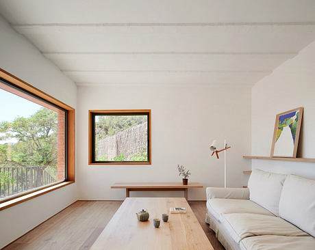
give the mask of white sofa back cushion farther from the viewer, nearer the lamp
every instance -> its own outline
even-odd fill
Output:
[[[285,179],[285,174],[253,169],[248,184],[249,199],[278,216],[279,199]]]

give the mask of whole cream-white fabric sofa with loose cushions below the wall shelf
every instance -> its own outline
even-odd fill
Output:
[[[205,222],[227,250],[315,250],[315,180],[253,169],[248,189],[207,188]]]

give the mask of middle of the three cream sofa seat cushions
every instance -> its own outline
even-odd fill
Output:
[[[298,227],[279,217],[265,214],[223,214],[223,225],[236,243],[250,236],[309,236]]]

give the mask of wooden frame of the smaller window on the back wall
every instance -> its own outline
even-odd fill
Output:
[[[95,114],[101,113],[148,113],[149,120],[148,120],[148,161],[145,162],[96,162],[93,158],[93,150],[94,150],[94,126],[92,117]],[[88,165],[151,165],[152,158],[151,158],[151,109],[119,109],[119,110],[89,110],[88,111]]]

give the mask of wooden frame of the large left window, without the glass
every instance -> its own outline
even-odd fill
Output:
[[[16,204],[26,202],[29,199],[33,199],[35,197],[38,197],[39,195],[44,195],[45,193],[51,192],[56,189],[60,189],[63,186],[67,186],[68,184],[72,184],[75,182],[75,109],[66,105],[64,102],[61,102],[56,98],[53,98],[53,96],[50,96],[45,92],[42,92],[40,89],[33,87],[29,83],[26,83],[21,79],[18,79],[18,77],[14,77],[14,75],[10,74],[9,72],[6,72],[2,68],[0,68],[0,79],[3,79],[4,81],[9,82],[13,86],[23,89],[26,92],[29,92],[34,96],[42,98],[48,102],[51,102],[53,105],[57,105],[58,107],[61,107],[62,109],[65,109],[67,111],[66,152],[68,154],[66,158],[67,169],[66,180],[62,182],[57,182],[50,186],[43,186],[42,188],[35,189],[34,191],[29,191],[21,195],[16,195],[12,197],[12,199],[5,200],[4,202],[0,203],[0,210],[3,210],[5,208],[10,208],[11,206],[14,206]]]

